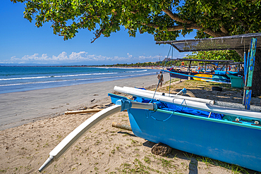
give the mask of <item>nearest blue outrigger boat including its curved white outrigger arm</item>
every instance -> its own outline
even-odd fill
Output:
[[[130,87],[114,90],[133,96],[133,100],[109,94],[115,105],[95,113],[73,130],[49,153],[40,171],[57,161],[99,121],[127,110],[131,129],[138,137],[261,172],[261,107],[250,106],[250,89],[246,89],[245,105]]]

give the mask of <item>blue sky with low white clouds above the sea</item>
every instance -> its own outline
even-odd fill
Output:
[[[63,41],[54,35],[51,23],[35,27],[23,18],[24,5],[4,0],[0,6],[0,64],[40,64],[40,65],[108,65],[114,63],[137,63],[159,61],[167,56],[169,45],[157,45],[154,37],[138,34],[129,37],[122,27],[111,37],[95,37],[93,32],[80,30],[76,37]],[[186,36],[193,39],[195,32]],[[185,39],[179,37],[178,39]],[[174,51],[174,58],[182,58],[189,53]]]

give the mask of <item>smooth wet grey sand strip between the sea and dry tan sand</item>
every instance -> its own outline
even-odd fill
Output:
[[[117,85],[149,87],[157,85],[157,75],[155,73],[155,75],[123,80],[0,94],[0,130],[13,128],[42,118],[61,116],[64,111],[68,110],[108,103],[109,97],[107,97],[107,94],[113,92],[114,86]]]

